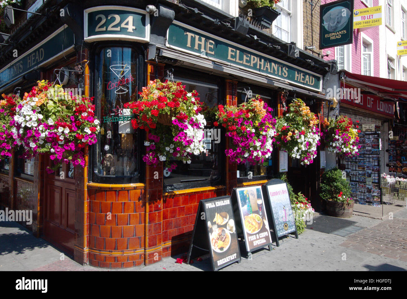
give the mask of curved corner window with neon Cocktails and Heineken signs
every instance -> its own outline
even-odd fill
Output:
[[[97,51],[94,95],[101,132],[92,152],[95,182],[138,180],[138,133],[131,126],[132,114],[124,104],[138,98],[138,82],[143,74],[140,59],[132,48]]]

